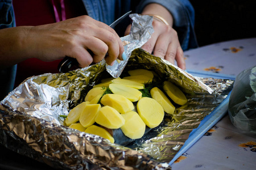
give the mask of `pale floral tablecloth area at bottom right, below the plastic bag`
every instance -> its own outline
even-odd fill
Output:
[[[229,116],[214,125],[172,164],[176,169],[255,169],[256,137],[237,132]]]

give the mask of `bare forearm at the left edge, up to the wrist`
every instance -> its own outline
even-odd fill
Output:
[[[5,69],[27,58],[26,36],[30,27],[0,29],[0,69]]]

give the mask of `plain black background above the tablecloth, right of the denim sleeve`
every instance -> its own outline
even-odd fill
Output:
[[[256,37],[256,1],[190,0],[199,46]]]

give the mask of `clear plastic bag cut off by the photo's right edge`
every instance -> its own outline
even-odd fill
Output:
[[[256,134],[256,66],[237,75],[230,94],[228,113],[234,126]]]

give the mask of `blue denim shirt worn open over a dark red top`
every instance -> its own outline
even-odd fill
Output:
[[[111,24],[115,19],[130,11],[132,0],[82,0],[87,14],[93,19]],[[194,32],[195,11],[188,0],[144,0],[138,1],[134,13],[141,13],[148,3],[158,3],[167,8],[174,17],[174,29],[177,31],[181,48],[188,50],[196,48],[197,41]],[[0,29],[15,27],[15,16],[11,0],[0,0]],[[1,47],[0,47],[1,48]],[[13,90],[16,65],[0,70],[0,101]]]

